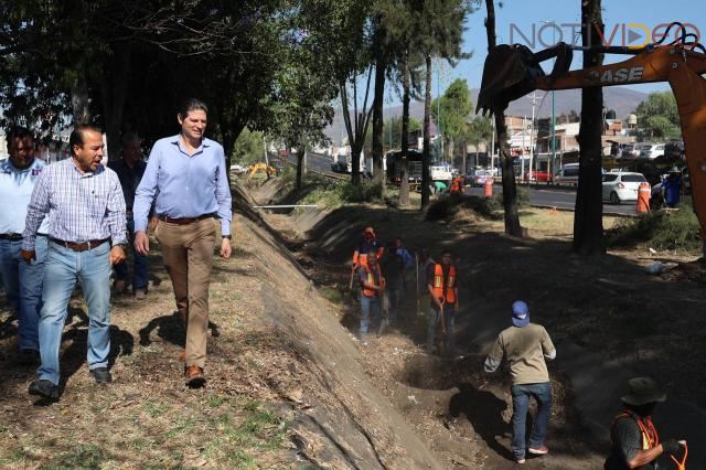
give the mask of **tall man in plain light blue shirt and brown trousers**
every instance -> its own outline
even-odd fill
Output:
[[[221,225],[221,256],[231,257],[231,190],[223,147],[203,133],[206,105],[188,100],[176,115],[181,132],[152,147],[135,194],[135,249],[147,255],[147,217],[152,202],[160,222],[157,239],[172,280],[176,309],[184,321],[184,376],[190,387],[205,384],[208,282]]]

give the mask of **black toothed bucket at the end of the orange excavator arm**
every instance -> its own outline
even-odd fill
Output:
[[[483,115],[500,107],[505,109],[513,102],[536,89],[537,78],[545,76],[541,62],[557,57],[549,78],[565,74],[570,64],[573,52],[570,46],[559,43],[554,47],[534,54],[522,44],[501,44],[485,57],[483,81],[478,95],[478,107]]]

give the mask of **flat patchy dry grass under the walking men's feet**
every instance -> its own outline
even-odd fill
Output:
[[[157,256],[148,301],[114,299],[109,386],[88,374],[85,306],[76,297],[62,344],[64,394],[35,403],[26,395],[33,371],[14,361],[17,323],[2,310],[0,348],[9,354],[0,362],[0,468],[290,467],[291,413],[269,384],[296,354],[257,321],[261,307],[245,300],[245,291],[259,289],[256,278],[228,271],[247,270],[249,256],[240,248],[235,263],[216,261],[203,389],[182,382],[183,331]]]

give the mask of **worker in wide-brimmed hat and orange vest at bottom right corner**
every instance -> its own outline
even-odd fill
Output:
[[[656,382],[650,377],[628,381],[628,395],[622,397],[623,410],[610,428],[611,449],[606,460],[606,470],[656,469],[656,460],[668,453],[676,462],[685,451],[686,441],[667,439],[660,441],[652,423],[652,413],[657,403],[666,399]],[[678,464],[678,462],[677,462]]]

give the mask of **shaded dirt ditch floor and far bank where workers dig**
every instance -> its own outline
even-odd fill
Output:
[[[263,194],[278,196],[271,186]],[[341,323],[352,331],[356,329],[357,307],[347,292],[345,264],[364,226],[374,226],[383,241],[400,235],[413,249],[431,247],[438,255],[443,247],[454,253],[461,271],[458,343],[463,357],[447,364],[420,351],[424,331],[414,316],[410,292],[407,317],[398,330],[362,349],[368,375],[445,467],[512,467],[507,452],[509,384],[502,376],[485,384],[480,364],[498,331],[509,324],[510,303],[522,298],[530,302],[533,320],[547,327],[559,354],[557,364],[550,366],[555,410],[547,444],[552,456],[533,459],[527,467],[600,468],[608,449],[608,436],[600,429],[610,425],[624,392],[624,373],[603,377],[602,364],[657,378],[667,387],[670,403],[704,406],[699,392],[704,364],[698,360],[703,353],[695,352],[702,352],[704,344],[703,284],[697,276],[681,275],[702,268],[683,264],[671,274],[648,276],[644,267],[655,260],[689,261],[694,257],[652,254],[646,248],[579,259],[570,255],[570,214],[527,210],[522,217],[530,227],[527,239],[506,237],[502,222],[473,214],[437,223],[424,221],[417,211],[375,205],[302,211],[295,217],[270,215],[268,221],[290,235],[289,246],[320,290],[338,306]],[[607,217],[605,223],[610,226],[612,220]],[[581,357],[563,356],[582,350],[590,352],[585,363]],[[385,359],[382,366],[381,357]],[[684,357],[692,359],[684,362]],[[590,408],[596,416],[587,417],[598,420],[599,426],[591,426],[598,434],[591,435],[577,415],[574,386],[560,370],[564,365],[590,365],[591,373],[581,374],[581,381],[606,381],[605,387],[577,387],[589,394],[581,396],[580,403],[598,403]],[[611,377],[619,383],[612,383]],[[591,397],[595,388],[603,392]],[[684,425],[688,417],[682,418],[682,426],[674,426],[663,413],[656,417],[670,436],[700,441],[700,430],[689,429]],[[704,456],[700,447],[694,446],[689,461],[698,466]]]

